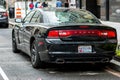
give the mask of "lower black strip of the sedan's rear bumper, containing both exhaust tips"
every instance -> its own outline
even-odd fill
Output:
[[[104,63],[109,62],[114,53],[95,53],[95,54],[54,54],[49,53],[48,58],[44,62],[48,63]]]

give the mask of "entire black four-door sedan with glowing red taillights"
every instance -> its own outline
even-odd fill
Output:
[[[86,10],[35,9],[16,22],[13,52],[27,53],[34,68],[46,63],[108,63],[115,55],[116,30]]]

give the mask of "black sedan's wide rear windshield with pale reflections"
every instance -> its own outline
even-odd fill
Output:
[[[45,11],[50,23],[100,23],[90,12],[85,10],[59,9]]]

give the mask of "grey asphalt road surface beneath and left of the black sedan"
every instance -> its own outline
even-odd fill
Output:
[[[49,64],[34,69],[29,56],[13,53],[12,29],[0,29],[0,80],[120,80],[119,62],[106,67],[94,64]]]

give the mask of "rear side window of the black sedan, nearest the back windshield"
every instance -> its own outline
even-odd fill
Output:
[[[36,11],[34,16],[32,17],[31,23],[42,23],[41,21],[42,14],[39,11]]]

